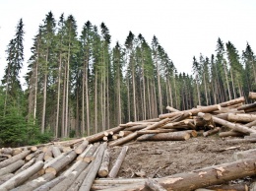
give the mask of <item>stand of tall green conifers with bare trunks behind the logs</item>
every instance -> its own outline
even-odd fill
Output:
[[[210,57],[191,58],[189,75],[178,73],[157,36],[147,42],[143,34],[127,32],[124,44],[113,43],[104,23],[96,27],[88,21],[78,32],[74,16],[56,20],[49,12],[27,61],[25,32],[21,19],[6,49],[0,145],[88,136],[156,118],[167,105],[189,109],[256,91],[256,57],[249,42],[239,54],[232,42],[218,38]],[[25,64],[26,90],[19,78]]]

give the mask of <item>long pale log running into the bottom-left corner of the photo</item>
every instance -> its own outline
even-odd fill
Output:
[[[21,173],[15,175],[2,185],[0,185],[0,190],[10,190],[17,186],[23,184],[27,179],[29,179],[34,173],[36,173],[43,166],[42,161],[37,161],[28,169],[22,171]]]

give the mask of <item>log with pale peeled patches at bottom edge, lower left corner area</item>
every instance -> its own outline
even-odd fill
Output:
[[[36,188],[40,187],[41,185],[51,181],[54,177],[55,177],[54,174],[46,173],[36,179],[33,179],[33,180],[27,182],[26,184],[24,184],[22,186],[19,186],[19,187],[13,189],[12,191],[25,191],[25,190],[33,191]]]

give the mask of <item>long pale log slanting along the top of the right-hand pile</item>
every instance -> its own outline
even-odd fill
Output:
[[[176,116],[178,114],[183,114],[186,112],[192,113],[192,115],[196,115],[199,112],[212,112],[215,110],[220,110],[221,106],[219,104],[216,105],[209,105],[206,107],[202,107],[202,108],[193,108],[193,109],[189,109],[189,110],[184,110],[184,111],[176,111],[176,112],[171,112],[171,113],[165,113],[165,114],[160,114],[160,119],[162,118],[167,118],[167,117],[173,117]]]

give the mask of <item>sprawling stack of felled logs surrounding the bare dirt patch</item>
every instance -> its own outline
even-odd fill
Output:
[[[256,94],[249,97],[256,99]],[[128,146],[108,169],[107,148],[131,141],[185,141],[219,133],[222,138],[241,137],[226,143],[256,142],[256,102],[244,101],[242,96],[182,111],[167,106],[169,112],[159,118],[120,124],[86,138],[2,148],[0,190],[195,190],[253,175],[256,159],[248,158],[160,179],[115,179]]]

